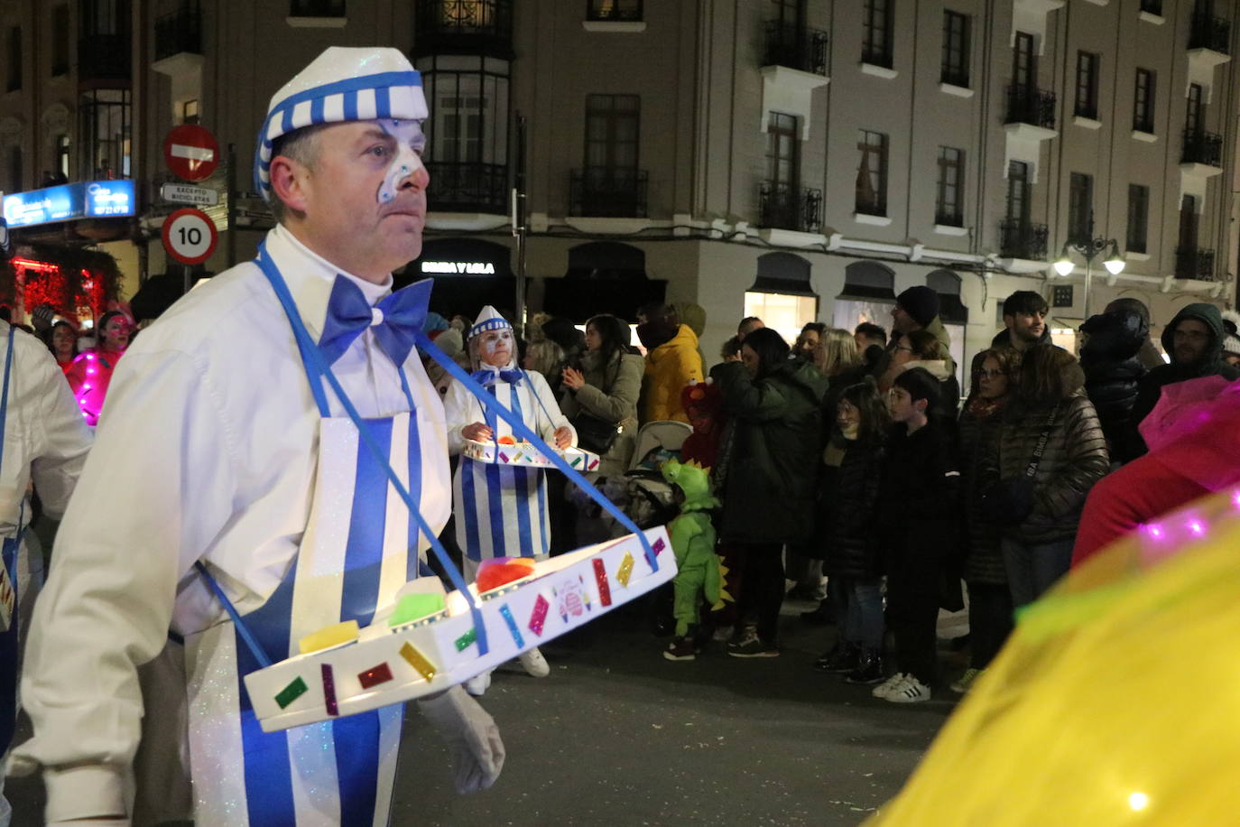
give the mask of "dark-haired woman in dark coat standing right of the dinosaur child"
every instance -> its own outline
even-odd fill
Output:
[[[728,643],[734,657],[779,655],[785,543],[810,539],[822,451],[822,397],[827,379],[763,327],[745,336],[740,362],[715,367],[733,444],[723,480],[725,543],[743,546],[740,625]]]

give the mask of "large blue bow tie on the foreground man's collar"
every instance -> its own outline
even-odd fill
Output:
[[[432,279],[423,279],[397,290],[371,307],[362,289],[342,275],[336,276],[327,299],[327,317],[322,322],[319,350],[332,365],[367,327],[374,329],[374,341],[397,367],[413,350],[414,336],[427,321]]]

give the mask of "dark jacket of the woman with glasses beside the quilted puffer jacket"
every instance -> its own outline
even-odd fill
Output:
[[[965,580],[978,585],[1007,583],[1007,569],[999,552],[999,524],[990,520],[982,506],[982,458],[997,450],[1003,430],[1003,408],[980,414],[967,405],[960,414],[960,484],[965,515]]]

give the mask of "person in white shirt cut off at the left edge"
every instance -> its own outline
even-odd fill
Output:
[[[64,513],[91,429],[47,347],[6,321],[0,321],[0,827],[7,827],[4,767],[17,718],[19,634],[43,565],[37,547],[32,558],[21,542],[31,517],[26,490],[33,480],[43,512]]]

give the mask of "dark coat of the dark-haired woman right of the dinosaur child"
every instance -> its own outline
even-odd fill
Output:
[[[826,378],[808,362],[789,360],[758,379],[740,362],[727,362],[715,381],[733,429],[722,536],[742,543],[810,539]]]

